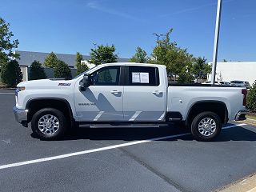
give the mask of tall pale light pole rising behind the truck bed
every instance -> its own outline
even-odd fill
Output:
[[[217,66],[217,58],[218,58],[218,36],[219,36],[219,26],[220,26],[220,22],[221,22],[221,14],[222,14],[222,0],[218,0],[215,36],[214,36],[213,66],[212,66],[212,70],[211,70],[211,84],[212,85],[214,85],[214,83],[215,83],[216,66]]]

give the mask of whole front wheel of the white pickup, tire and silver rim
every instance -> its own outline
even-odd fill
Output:
[[[43,140],[61,138],[66,132],[67,122],[64,114],[54,108],[38,110],[33,115],[31,128]]]

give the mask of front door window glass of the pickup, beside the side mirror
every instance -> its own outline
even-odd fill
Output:
[[[118,86],[120,66],[106,66],[91,74],[92,86]]]

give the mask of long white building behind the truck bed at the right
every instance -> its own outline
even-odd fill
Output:
[[[250,82],[252,85],[256,80],[256,62],[218,62],[215,77],[216,81],[240,80]],[[210,80],[211,74],[208,76],[208,81]]]

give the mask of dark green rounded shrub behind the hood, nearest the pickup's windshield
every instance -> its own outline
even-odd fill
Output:
[[[58,60],[54,67],[54,78],[72,78],[70,67],[61,60]]]

